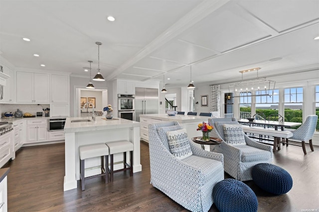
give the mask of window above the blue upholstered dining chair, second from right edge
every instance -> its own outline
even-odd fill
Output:
[[[285,121],[303,122],[303,101],[303,88],[285,89]]]

